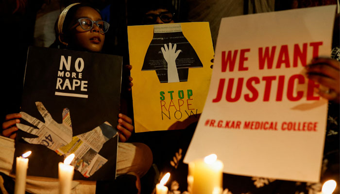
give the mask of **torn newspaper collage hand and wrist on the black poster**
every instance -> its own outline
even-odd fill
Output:
[[[38,136],[23,138],[26,142],[46,146],[59,155],[66,156],[74,153],[75,159],[71,164],[84,177],[90,177],[107,162],[98,152],[107,140],[117,135],[117,130],[108,122],[104,122],[91,131],[72,137],[72,124],[68,108],[64,109],[63,122],[59,124],[51,117],[42,102],[35,102],[35,105],[45,122],[25,112],[20,112],[24,120],[37,127],[17,124],[18,129]]]

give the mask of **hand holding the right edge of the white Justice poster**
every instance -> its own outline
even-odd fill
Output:
[[[340,63],[330,58],[315,58],[312,63],[306,65],[307,78],[320,83],[320,87],[316,92],[337,103],[340,101]]]

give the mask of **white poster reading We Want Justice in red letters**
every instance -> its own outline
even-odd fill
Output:
[[[327,100],[304,68],[330,55],[334,14],[324,6],[223,18],[185,162],[215,153],[225,173],[319,181]]]

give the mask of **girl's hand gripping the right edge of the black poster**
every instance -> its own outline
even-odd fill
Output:
[[[117,126],[117,129],[119,130],[119,140],[121,142],[126,142],[131,137],[132,131],[134,130],[132,119],[122,113],[119,113],[118,116],[119,124]]]

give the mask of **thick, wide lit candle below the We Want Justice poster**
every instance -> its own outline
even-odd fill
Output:
[[[189,163],[188,184],[192,185],[193,194],[222,193],[223,163],[211,154],[204,160]],[[193,179],[193,180],[192,180]]]

